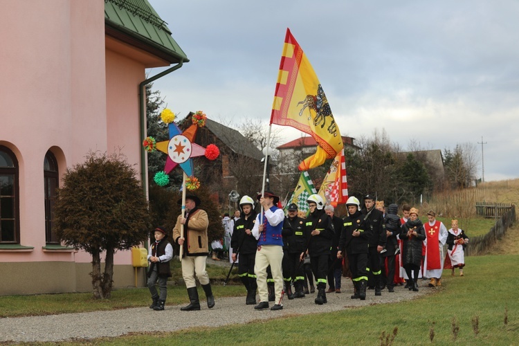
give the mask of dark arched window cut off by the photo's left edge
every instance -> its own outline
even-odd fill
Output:
[[[0,145],[0,243],[19,242],[18,160],[8,147]]]

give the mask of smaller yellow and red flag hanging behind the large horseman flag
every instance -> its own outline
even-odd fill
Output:
[[[344,149],[335,156],[330,169],[322,181],[318,194],[327,203],[336,207],[346,203],[348,199],[348,183],[346,179],[346,163],[344,159]]]

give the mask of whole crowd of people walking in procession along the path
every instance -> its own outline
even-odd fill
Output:
[[[309,213],[302,217],[295,203],[286,208],[285,215],[279,201],[271,191],[256,200],[242,197],[235,215],[226,214],[222,219],[224,239],[208,246],[207,213],[199,208],[198,197],[185,198],[186,214],[179,216],[172,234],[172,242],[183,247],[182,275],[190,298],[190,304],[181,310],[200,309],[196,280],[206,293],[208,308],[215,306],[206,272],[210,248],[216,260],[220,260],[215,255],[220,249],[228,251],[247,291],[245,303],[255,305],[256,310],[280,310],[284,295],[292,300],[316,290],[315,304],[325,304],[327,293],[341,293],[342,277],[352,280],[351,298],[365,300],[370,289],[374,295],[382,295],[386,288],[393,293],[395,286],[405,284],[410,291],[419,291],[419,279],[430,280],[430,287],[441,286],[444,266],[452,268],[452,275],[455,268],[464,275],[468,237],[457,220],[447,230],[434,210],[426,213],[424,224],[417,208],[404,205],[399,217],[397,204],[386,209],[383,201],[368,194],[362,206],[356,197],[349,197],[347,216],[341,218],[319,194],[312,194],[307,199]],[[255,212],[256,203],[261,212]],[[154,238],[147,286],[152,294],[150,308],[163,310],[172,246],[164,228],[156,228]],[[446,256],[444,245],[448,246]]]

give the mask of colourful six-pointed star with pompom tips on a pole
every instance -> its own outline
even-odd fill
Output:
[[[167,113],[167,111],[169,111],[169,109],[165,109],[163,113]],[[197,116],[196,121],[194,116]],[[158,172],[154,177],[154,180],[158,185],[167,185],[167,183],[169,183],[169,177],[167,174],[170,174],[177,165],[180,165],[182,170],[185,172],[185,175],[189,177],[189,181],[193,182],[189,184],[188,188],[190,188],[190,190],[195,190],[200,186],[200,183],[198,179],[193,176],[193,161],[191,158],[205,155],[210,160],[215,160],[218,157],[219,149],[216,145],[210,144],[207,148],[204,148],[201,145],[193,143],[198,127],[202,127],[206,123],[206,114],[202,111],[197,111],[194,116],[192,119],[192,125],[185,129],[185,131],[181,131],[172,119],[168,124],[170,140],[156,143],[156,149],[167,154],[164,172]],[[143,145],[145,148],[145,143],[149,143],[149,141],[148,138],[144,141]],[[150,152],[148,149],[147,151]]]

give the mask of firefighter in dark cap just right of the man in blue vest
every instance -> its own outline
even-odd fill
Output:
[[[283,224],[283,240],[286,237],[286,255],[288,255],[288,263],[286,267],[283,266],[283,275],[285,280],[287,277],[289,277],[293,282],[293,298],[303,298],[304,268],[302,262],[299,260],[299,256],[306,250],[305,245],[307,244],[307,240],[304,238],[304,219],[298,217],[298,206],[295,203],[291,203],[289,205],[288,211],[289,215],[288,217],[285,217]],[[285,268],[288,275],[285,274]],[[285,281],[285,284],[289,289],[289,299],[291,299],[291,282]]]

